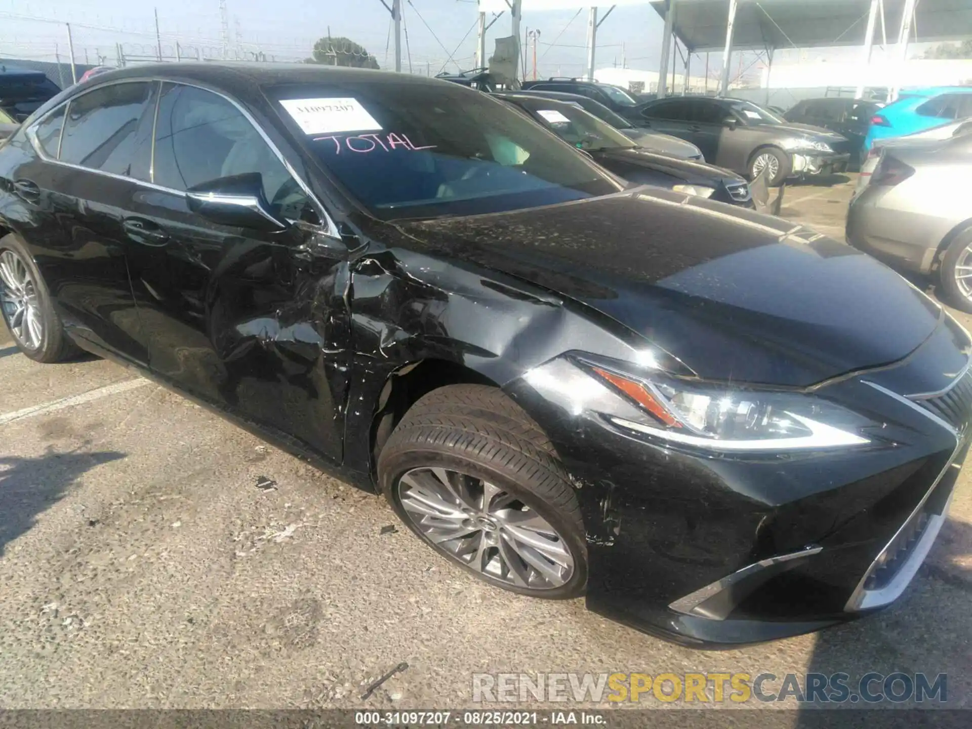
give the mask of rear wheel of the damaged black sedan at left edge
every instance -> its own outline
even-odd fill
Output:
[[[78,354],[40,271],[16,235],[0,238],[0,309],[17,347],[31,360],[61,362]]]

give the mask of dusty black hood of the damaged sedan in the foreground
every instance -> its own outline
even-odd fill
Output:
[[[850,246],[672,191],[397,225],[429,253],[606,314],[709,379],[811,385],[900,360],[943,316]]]

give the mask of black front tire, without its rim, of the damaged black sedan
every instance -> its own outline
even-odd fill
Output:
[[[573,558],[561,586],[518,587],[462,563],[418,529],[399,498],[399,480],[411,469],[452,469],[489,481],[536,511]],[[381,451],[378,480],[399,519],[449,561],[503,589],[532,597],[577,597],[587,582],[587,550],[580,506],[549,438],[515,402],[495,387],[448,385],[419,399],[404,414]]]

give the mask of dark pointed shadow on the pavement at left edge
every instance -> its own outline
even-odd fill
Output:
[[[60,501],[78,478],[124,457],[117,451],[78,450],[49,450],[37,458],[0,456],[0,557],[6,545],[29,531],[38,514]]]

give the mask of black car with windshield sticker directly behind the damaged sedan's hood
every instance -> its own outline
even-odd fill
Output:
[[[746,180],[729,170],[640,147],[610,124],[572,103],[524,93],[496,95],[629,182],[753,207]]]

